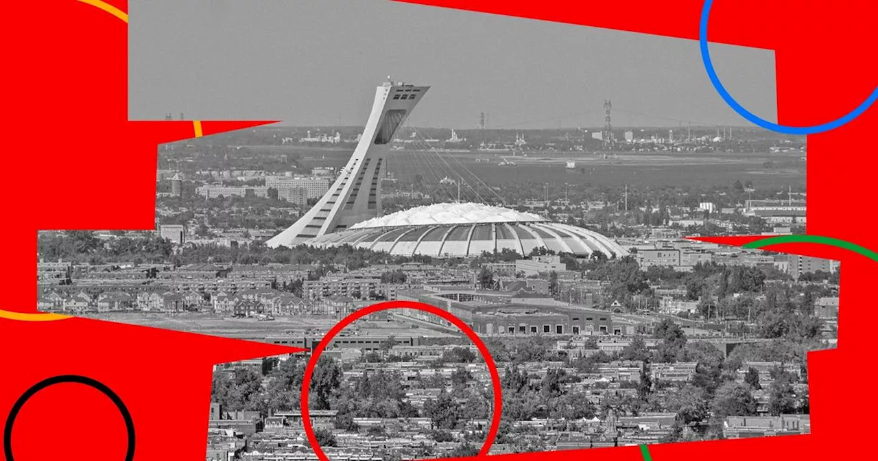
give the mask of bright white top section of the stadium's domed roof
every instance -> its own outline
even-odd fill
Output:
[[[379,218],[358,222],[351,229],[422,226],[428,224],[482,224],[492,222],[543,222],[542,216],[500,206],[475,203],[442,203],[417,206]]]

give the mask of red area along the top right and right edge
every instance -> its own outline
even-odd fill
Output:
[[[696,40],[702,0],[651,2],[579,2],[544,0],[539,3],[502,0],[395,0],[470,11],[484,11],[521,18],[593,25],[630,32],[644,32]],[[860,104],[874,90],[876,68],[866,56],[876,42],[874,23],[878,3],[761,2],[716,0],[711,11],[709,40],[775,50],[778,121],[784,125],[816,125],[836,119]],[[694,47],[695,49],[695,47]],[[706,76],[705,76],[706,78]],[[868,222],[863,199],[874,195],[878,157],[864,146],[878,126],[874,106],[831,132],[808,136],[808,232],[868,248],[878,248],[878,235]],[[857,218],[861,218],[857,220]],[[739,240],[738,244],[740,244]],[[772,249],[824,255],[842,261],[838,317],[838,347],[808,355],[811,434],[722,442],[675,443],[651,447],[653,459],[710,457],[719,459],[774,459],[798,457],[823,459],[874,457],[867,443],[857,443],[853,431],[838,421],[853,421],[874,414],[878,402],[863,399],[873,392],[868,382],[851,379],[870,357],[878,323],[878,310],[869,308],[878,265],[862,256],[842,256],[842,249],[817,249],[816,245],[773,246]],[[653,450],[654,448],[654,450]],[[582,452],[590,457],[592,451]],[[540,453],[529,458],[555,455]]]

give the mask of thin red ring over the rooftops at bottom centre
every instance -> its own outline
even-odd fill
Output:
[[[479,450],[478,455],[479,457],[486,457],[491,450],[491,445],[493,444],[494,439],[497,438],[497,431],[500,429],[500,414],[502,413],[503,397],[500,390],[500,373],[497,371],[497,365],[494,364],[493,357],[491,357],[491,353],[488,351],[485,343],[482,342],[479,335],[476,335],[476,332],[473,331],[469,325],[464,323],[464,321],[439,307],[430,306],[416,301],[386,301],[372,306],[363,307],[335,324],[335,327],[331,328],[327,334],[320,339],[320,343],[317,344],[317,347],[313,349],[311,358],[308,359],[308,364],[305,368],[305,376],[302,378],[301,401],[302,425],[305,427],[305,434],[308,437],[308,442],[311,443],[312,450],[314,450],[314,453],[320,461],[330,461],[326,453],[323,452],[323,449],[320,448],[320,443],[317,443],[317,437],[314,436],[314,429],[311,425],[311,411],[308,408],[308,395],[311,388],[311,378],[313,377],[314,367],[317,366],[317,361],[320,359],[320,355],[323,354],[327,344],[335,338],[335,335],[338,335],[342,329],[348,327],[354,321],[362,319],[370,313],[377,313],[379,311],[390,309],[416,309],[442,317],[444,320],[453,323],[457,328],[460,328],[460,330],[470,338],[470,341],[476,345],[476,348],[479,349],[479,352],[488,367],[488,371],[491,373],[491,384],[493,386],[493,415],[491,417],[491,429],[488,429],[485,443],[482,445],[481,450]]]

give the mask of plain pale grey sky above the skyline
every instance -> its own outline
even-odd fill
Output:
[[[388,0],[129,3],[129,116],[362,126],[374,89],[430,85],[410,126],[748,126],[697,41]],[[637,14],[632,12],[631,14]],[[718,75],[776,120],[774,54],[712,45]]]

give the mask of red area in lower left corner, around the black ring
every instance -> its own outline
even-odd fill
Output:
[[[14,371],[4,373],[0,393],[4,421],[14,402],[46,378],[80,375],[96,379],[118,394],[132,415],[135,460],[163,459],[169,452],[175,459],[204,459],[214,364],[304,350],[80,318],[0,319],[0,329],[4,332],[0,335],[4,366]],[[22,350],[27,353],[16,353]],[[106,419],[112,413],[94,399],[90,401],[100,411],[68,413],[70,399],[83,391],[69,395],[59,391],[70,391],[75,384],[57,386],[47,387],[25,403],[21,413],[25,420],[16,421],[13,428],[16,459],[51,459],[46,457],[47,447],[54,443],[56,433],[70,426],[87,430],[89,443],[97,443],[105,431],[115,440],[117,416]],[[52,411],[42,413],[46,408]],[[37,411],[41,426],[28,423]],[[117,443],[108,443],[115,450]]]

